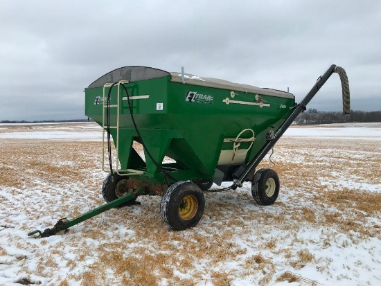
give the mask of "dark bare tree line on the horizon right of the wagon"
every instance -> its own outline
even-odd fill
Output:
[[[351,114],[344,115],[340,111],[317,111],[308,109],[299,114],[294,120],[297,125],[308,124],[330,124],[330,123],[366,123],[381,122],[380,111],[356,111],[351,110]]]

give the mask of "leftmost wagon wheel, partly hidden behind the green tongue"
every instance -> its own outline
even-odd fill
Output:
[[[126,182],[128,181],[127,176],[119,176],[114,173],[114,181],[112,181],[112,175],[111,173],[107,175],[105,181],[103,181],[102,186],[102,195],[103,199],[105,199],[106,202],[112,202],[115,199],[118,199],[119,197],[123,197],[123,195],[130,194],[134,191],[132,188],[127,188],[125,186]],[[132,204],[135,204],[136,198],[132,199],[128,202],[125,202],[120,206],[131,206]]]

